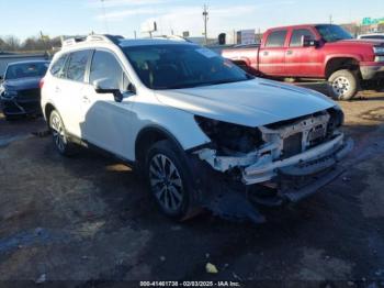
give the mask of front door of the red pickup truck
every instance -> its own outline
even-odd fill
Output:
[[[294,29],[291,33],[289,48],[285,54],[285,69],[287,76],[314,77],[321,75],[323,63],[316,46],[303,46],[302,37],[316,40],[309,29]]]

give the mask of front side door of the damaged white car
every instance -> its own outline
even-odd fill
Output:
[[[109,88],[122,91],[122,102],[116,102],[112,93],[95,92],[93,84],[102,79],[111,80]],[[87,142],[124,158],[127,158],[127,151],[133,145],[128,84],[127,74],[117,57],[110,51],[97,49],[90,65],[89,84],[83,90],[81,134]]]

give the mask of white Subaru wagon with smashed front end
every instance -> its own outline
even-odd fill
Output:
[[[176,219],[205,207],[262,222],[258,204],[314,193],[352,147],[324,95],[255,78],[188,42],[69,40],[41,86],[59,153],[80,144],[117,156]]]

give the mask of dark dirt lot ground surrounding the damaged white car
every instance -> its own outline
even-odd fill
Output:
[[[42,119],[0,119],[0,280],[384,286],[384,93],[363,96],[341,103],[355,141],[347,171],[297,206],[267,210],[260,226],[210,213],[172,222],[121,163],[88,151],[63,158],[32,134]]]

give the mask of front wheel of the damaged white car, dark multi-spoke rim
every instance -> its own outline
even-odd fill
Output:
[[[168,140],[157,142],[148,149],[144,169],[160,210],[174,220],[189,218],[193,210],[191,174],[183,153]]]

